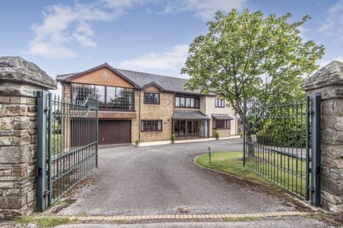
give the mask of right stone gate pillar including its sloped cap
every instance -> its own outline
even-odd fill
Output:
[[[322,95],[321,204],[343,212],[343,63],[332,61],[307,78],[307,95]]]

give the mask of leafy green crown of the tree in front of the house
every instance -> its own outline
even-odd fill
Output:
[[[260,103],[304,95],[303,76],[315,71],[324,47],[302,41],[302,21],[289,22],[292,14],[264,18],[261,11],[239,14],[217,12],[209,33],[189,46],[182,73],[190,76],[186,88],[215,93],[226,99],[240,116],[244,100]]]

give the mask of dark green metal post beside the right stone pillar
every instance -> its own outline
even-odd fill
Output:
[[[320,206],[320,93],[312,96],[312,157],[311,157],[311,172],[312,172],[312,196],[311,204],[316,207]]]

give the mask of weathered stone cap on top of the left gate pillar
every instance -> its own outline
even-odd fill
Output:
[[[0,57],[0,81],[26,83],[46,89],[57,88],[57,82],[45,71],[21,57]]]

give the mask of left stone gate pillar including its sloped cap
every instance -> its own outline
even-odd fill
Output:
[[[36,98],[56,81],[20,57],[0,57],[0,217],[36,209]]]

